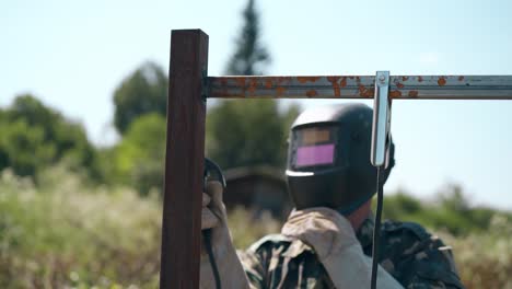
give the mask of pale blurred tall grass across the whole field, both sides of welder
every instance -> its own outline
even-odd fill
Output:
[[[158,288],[161,204],[127,187],[93,187],[61,167],[35,186],[0,176],[0,288]],[[247,247],[280,223],[235,209],[230,228]],[[398,216],[399,217],[399,216]],[[512,288],[512,224],[500,213],[484,231],[454,236],[467,288]]]

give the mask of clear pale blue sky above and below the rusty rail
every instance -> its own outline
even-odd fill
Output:
[[[2,1],[0,105],[23,92],[112,140],[116,85],[146,60],[168,69],[170,31],[210,36],[222,74],[242,1]],[[512,74],[512,1],[259,0],[270,74]],[[330,101],[331,102],[331,101]],[[319,105],[328,101],[301,101]],[[474,204],[512,209],[512,101],[397,101],[387,190],[432,197],[463,184]]]

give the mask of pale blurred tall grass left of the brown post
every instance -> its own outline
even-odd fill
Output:
[[[0,288],[155,288],[158,201],[127,188],[84,188],[62,170],[49,174],[60,182],[35,187],[2,174]]]

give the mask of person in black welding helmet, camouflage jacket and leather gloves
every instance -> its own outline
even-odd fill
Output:
[[[377,171],[370,162],[372,108],[339,104],[303,112],[290,129],[287,180],[294,209],[280,234],[236,252],[222,203],[223,186],[202,195],[201,288],[370,288],[371,200]],[[379,178],[395,164],[395,146]],[[414,222],[386,220],[379,236],[376,288],[464,288],[452,251]],[[213,264],[212,264],[213,263]],[[217,284],[216,284],[217,281]]]

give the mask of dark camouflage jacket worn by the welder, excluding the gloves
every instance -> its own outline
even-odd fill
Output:
[[[373,224],[369,218],[357,232],[368,256]],[[405,288],[464,288],[451,248],[439,238],[412,222],[385,221],[381,230],[379,263]],[[268,235],[240,257],[252,288],[335,288],[313,248],[299,240]]]

